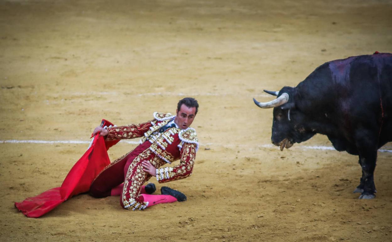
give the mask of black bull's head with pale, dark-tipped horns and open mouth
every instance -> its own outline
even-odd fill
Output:
[[[316,133],[305,128],[306,116],[296,109],[294,102],[293,87],[283,87],[279,92],[267,91],[270,95],[277,96],[270,102],[258,102],[253,98],[254,103],[261,108],[274,108],[274,118],[272,121],[272,144],[280,146],[280,150],[290,148],[294,143],[300,143],[310,139]]]

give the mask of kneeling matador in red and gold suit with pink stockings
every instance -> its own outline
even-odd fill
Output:
[[[162,195],[151,195],[154,184],[143,186],[152,176],[159,183],[185,178],[192,174],[198,138],[189,127],[198,111],[194,98],[183,98],[178,102],[176,115],[154,113],[154,119],[120,127],[96,127],[93,135],[100,133],[105,140],[139,138],[131,152],[109,164],[95,178],[90,187],[93,197],[120,195],[120,204],[125,209],[145,209],[155,204],[184,201],[186,196],[169,187],[162,187]],[[180,159],[173,167],[161,166]]]

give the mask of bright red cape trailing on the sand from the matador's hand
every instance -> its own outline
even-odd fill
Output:
[[[103,126],[113,125],[107,120],[102,121]],[[74,195],[89,191],[96,176],[110,164],[107,150],[118,142],[119,140],[105,141],[99,133],[96,134],[93,144],[71,168],[61,187],[26,198],[23,202],[15,202],[15,207],[27,217],[39,218]]]

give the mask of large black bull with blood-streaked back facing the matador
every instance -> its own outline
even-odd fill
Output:
[[[264,90],[265,91],[265,90]],[[281,150],[327,135],[338,151],[359,155],[362,177],[354,193],[374,198],[377,150],[392,141],[392,54],[352,56],[327,62],[296,87],[283,87],[274,107],[272,143]]]

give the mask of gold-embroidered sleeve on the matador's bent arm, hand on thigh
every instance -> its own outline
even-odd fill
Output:
[[[196,144],[184,143],[180,157],[180,164],[177,166],[156,169],[156,180],[159,183],[182,179],[192,174],[196,157]]]

